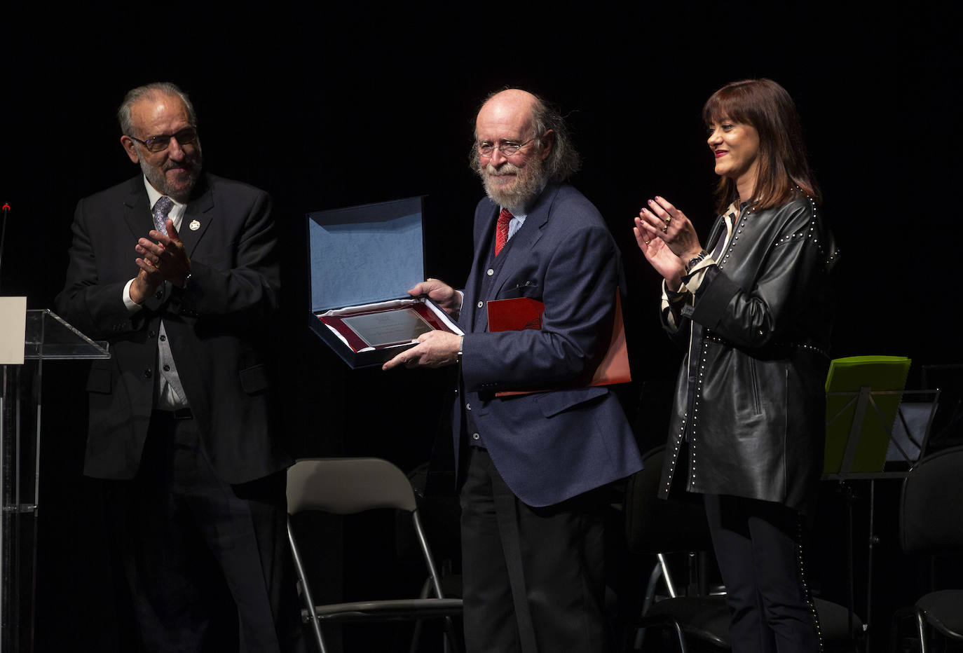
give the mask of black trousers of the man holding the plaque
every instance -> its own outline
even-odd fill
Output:
[[[470,456],[461,489],[467,651],[611,650],[604,491],[532,508],[512,494],[486,451]]]

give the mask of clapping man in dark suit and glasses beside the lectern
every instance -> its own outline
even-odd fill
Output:
[[[78,203],[56,300],[111,342],[91,366],[84,471],[105,480],[143,649],[286,649],[271,199],[201,173],[194,107],[174,85],[128,92],[117,116],[143,175]]]

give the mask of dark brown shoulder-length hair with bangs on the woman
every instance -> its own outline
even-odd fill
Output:
[[[759,176],[751,197],[756,208],[785,204],[796,195],[796,186],[820,201],[820,190],[806,158],[799,115],[785,89],[771,79],[726,84],[702,107],[702,119],[707,124],[722,118],[750,124],[759,134]],[[718,212],[738,198],[735,180],[721,177],[716,187]]]

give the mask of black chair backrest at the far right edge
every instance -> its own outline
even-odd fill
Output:
[[[907,552],[963,549],[963,446],[924,457],[906,475],[899,543]]]

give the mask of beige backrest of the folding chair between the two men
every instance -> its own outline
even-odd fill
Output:
[[[402,470],[381,458],[302,458],[288,469],[288,513],[417,509]]]

